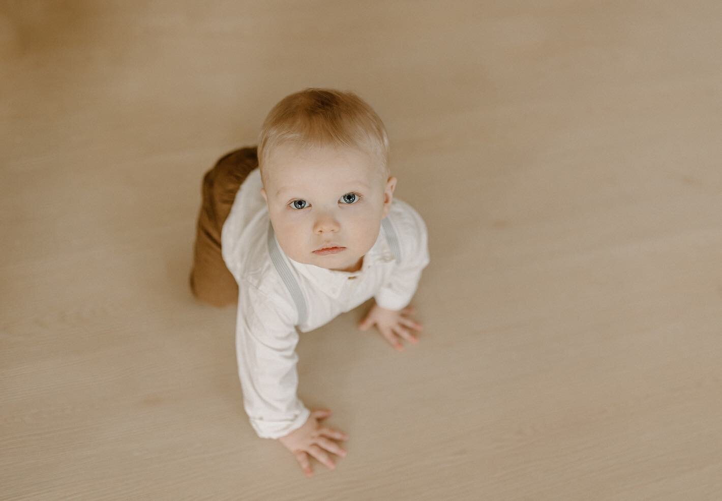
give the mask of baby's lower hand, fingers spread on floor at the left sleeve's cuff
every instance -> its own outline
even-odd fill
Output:
[[[348,440],[348,435],[329,427],[323,427],[319,423],[321,419],[326,419],[330,415],[331,411],[329,409],[311,411],[311,415],[302,427],[278,439],[285,448],[296,456],[296,461],[301,465],[306,476],[313,475],[309,455],[321,461],[329,469],[336,468],[336,465],[331,461],[329,453],[326,452],[327,450],[338,454],[342,458],[346,457],[346,451],[333,440],[329,440],[329,438]]]

